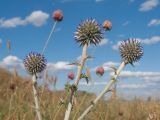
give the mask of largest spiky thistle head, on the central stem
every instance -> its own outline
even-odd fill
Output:
[[[80,46],[84,46],[85,44],[97,45],[103,39],[103,33],[95,19],[87,19],[78,26],[74,38],[76,42],[80,43]]]

